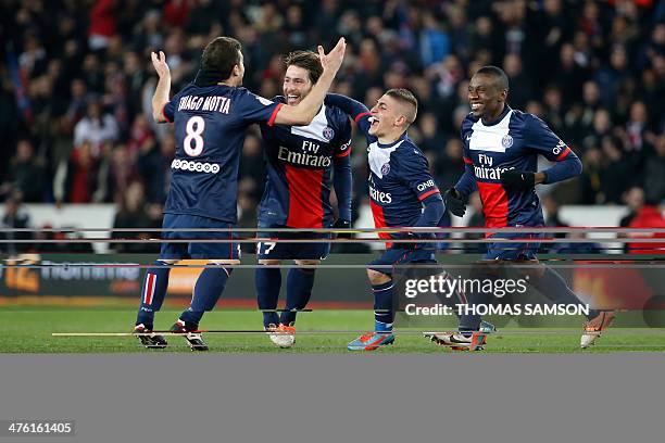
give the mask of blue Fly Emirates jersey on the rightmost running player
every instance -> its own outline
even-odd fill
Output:
[[[556,162],[575,153],[540,118],[505,106],[495,122],[484,124],[473,113],[462,123],[464,162],[473,167],[487,227],[544,224],[536,190],[507,191],[501,174],[536,173],[538,155]]]

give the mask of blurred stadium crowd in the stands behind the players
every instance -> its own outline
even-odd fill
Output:
[[[335,91],[372,104],[412,89],[421,112],[410,136],[440,189],[463,170],[468,79],[502,66],[511,106],[541,116],[582,159],[581,179],[552,191],[556,203],[624,204],[636,187],[647,203],[665,201],[663,2],[1,0],[0,202],[115,202],[116,227],[159,226],[175,140],[151,118],[149,54],[167,54],[177,91],[219,35],[242,42],[244,85],[266,98],[281,91],[283,54],[344,36]],[[357,207],[367,170],[355,145]],[[241,226],[255,226],[263,175],[252,129]]]

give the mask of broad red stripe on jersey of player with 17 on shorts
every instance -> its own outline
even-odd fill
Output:
[[[286,165],[289,187],[290,228],[322,228],[324,208],[322,202],[324,169],[305,169]]]

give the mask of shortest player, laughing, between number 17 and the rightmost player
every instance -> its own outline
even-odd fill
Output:
[[[429,174],[427,159],[409,139],[418,102],[406,89],[390,89],[372,107],[343,96],[328,94],[326,103],[351,115],[367,137],[369,205],[377,228],[436,227],[443,201]],[[380,232],[384,239],[434,238],[434,235]],[[436,263],[432,243],[387,243],[387,251],[369,264],[374,293],[374,331],[349,343],[350,351],[374,351],[394,342],[392,268],[409,263]]]

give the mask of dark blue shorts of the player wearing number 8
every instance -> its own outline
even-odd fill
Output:
[[[234,225],[216,220],[214,218],[199,217],[198,215],[164,214],[162,223],[164,229],[173,228],[205,228],[218,229],[218,231],[164,231],[164,240],[230,240],[236,236],[231,231]],[[240,260],[240,244],[235,242],[218,243],[162,243],[160,258],[163,260]]]

